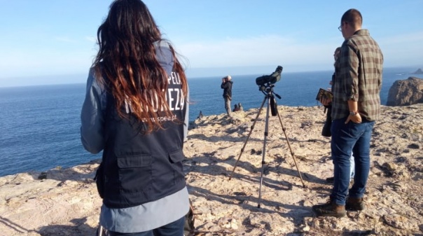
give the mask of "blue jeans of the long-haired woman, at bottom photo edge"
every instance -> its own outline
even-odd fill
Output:
[[[185,224],[185,216],[160,228],[149,230],[146,232],[111,232],[106,236],[183,236],[183,225]]]

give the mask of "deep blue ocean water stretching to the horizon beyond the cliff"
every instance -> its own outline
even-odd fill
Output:
[[[406,79],[415,68],[384,69],[381,99],[387,103],[392,83]],[[268,71],[270,74],[272,71]],[[263,74],[233,76],[233,101],[245,110],[258,108],[265,95],[256,78]],[[329,88],[332,71],[284,73],[275,83],[276,99],[283,106],[317,106],[319,88]],[[419,77],[419,76],[417,76]],[[188,78],[190,120],[225,113],[221,77]],[[92,155],[80,141],[80,113],[85,84],[0,88],[0,176],[55,167],[81,165]]]

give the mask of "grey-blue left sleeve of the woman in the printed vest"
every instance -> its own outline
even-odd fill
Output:
[[[93,154],[104,148],[105,96],[106,92],[95,79],[94,69],[90,69],[81,110],[81,142],[85,150]]]

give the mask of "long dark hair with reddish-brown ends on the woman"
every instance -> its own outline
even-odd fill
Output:
[[[171,114],[165,95],[169,75],[155,57],[154,42],[164,39],[147,6],[140,0],[113,1],[97,30],[97,40],[99,51],[92,66],[97,80],[115,98],[119,116],[125,117],[121,108],[126,102],[132,114],[147,124],[147,133],[162,128],[154,120],[158,120],[160,113]],[[174,48],[170,45],[169,48],[173,71],[179,74],[186,101],[186,75]]]

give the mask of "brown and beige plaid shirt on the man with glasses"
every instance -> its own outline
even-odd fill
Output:
[[[361,117],[380,116],[383,55],[367,29],[356,31],[342,43],[339,71],[333,78],[332,119],[349,116],[348,100],[358,102]]]

